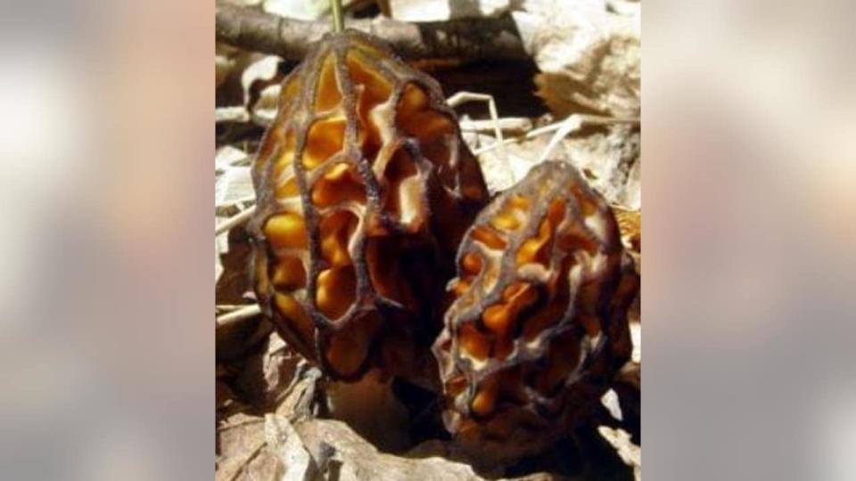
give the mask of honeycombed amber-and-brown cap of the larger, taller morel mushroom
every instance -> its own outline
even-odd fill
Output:
[[[332,379],[436,379],[438,298],[488,200],[440,87],[349,30],[314,45],[279,102],[252,171],[263,312]]]

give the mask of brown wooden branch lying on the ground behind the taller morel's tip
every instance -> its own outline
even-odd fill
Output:
[[[331,30],[327,20],[292,20],[222,1],[218,1],[216,8],[218,42],[272,53],[286,60],[302,60],[309,44]],[[378,17],[346,20],[345,28],[381,37],[407,59],[520,61],[529,58],[509,15],[424,23]]]

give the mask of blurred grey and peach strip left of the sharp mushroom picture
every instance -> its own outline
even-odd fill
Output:
[[[2,477],[210,477],[214,5],[3,8]]]

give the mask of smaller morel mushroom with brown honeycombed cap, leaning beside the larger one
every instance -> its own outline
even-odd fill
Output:
[[[444,422],[481,461],[510,462],[568,433],[630,357],[638,275],[605,201],[547,162],[466,232],[435,342]]]

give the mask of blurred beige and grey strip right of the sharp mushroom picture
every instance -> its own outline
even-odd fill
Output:
[[[856,479],[854,16],[646,3],[649,479]]]

